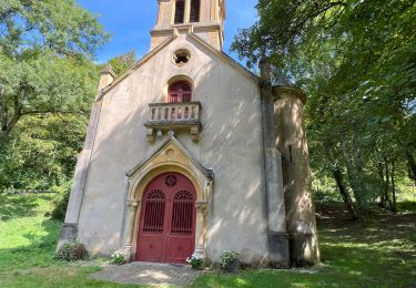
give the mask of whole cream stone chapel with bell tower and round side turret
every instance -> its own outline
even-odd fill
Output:
[[[131,261],[314,264],[304,93],[223,51],[224,0],[159,0],[150,52],[102,71],[60,244]]]

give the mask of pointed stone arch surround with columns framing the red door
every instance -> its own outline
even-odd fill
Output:
[[[136,254],[138,228],[142,196],[158,175],[175,172],[186,176],[196,191],[195,254],[205,256],[206,213],[213,193],[213,172],[204,168],[173,133],[166,137],[144,161],[126,173],[129,178],[125,222],[123,227],[123,251],[128,260]]]

